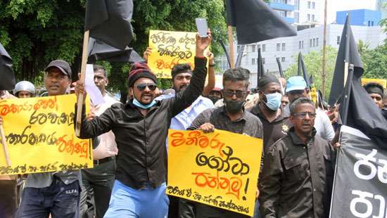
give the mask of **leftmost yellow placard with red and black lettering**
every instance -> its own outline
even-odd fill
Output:
[[[75,136],[76,101],[74,94],[1,100],[11,166],[1,148],[0,175],[93,167],[91,141]]]

